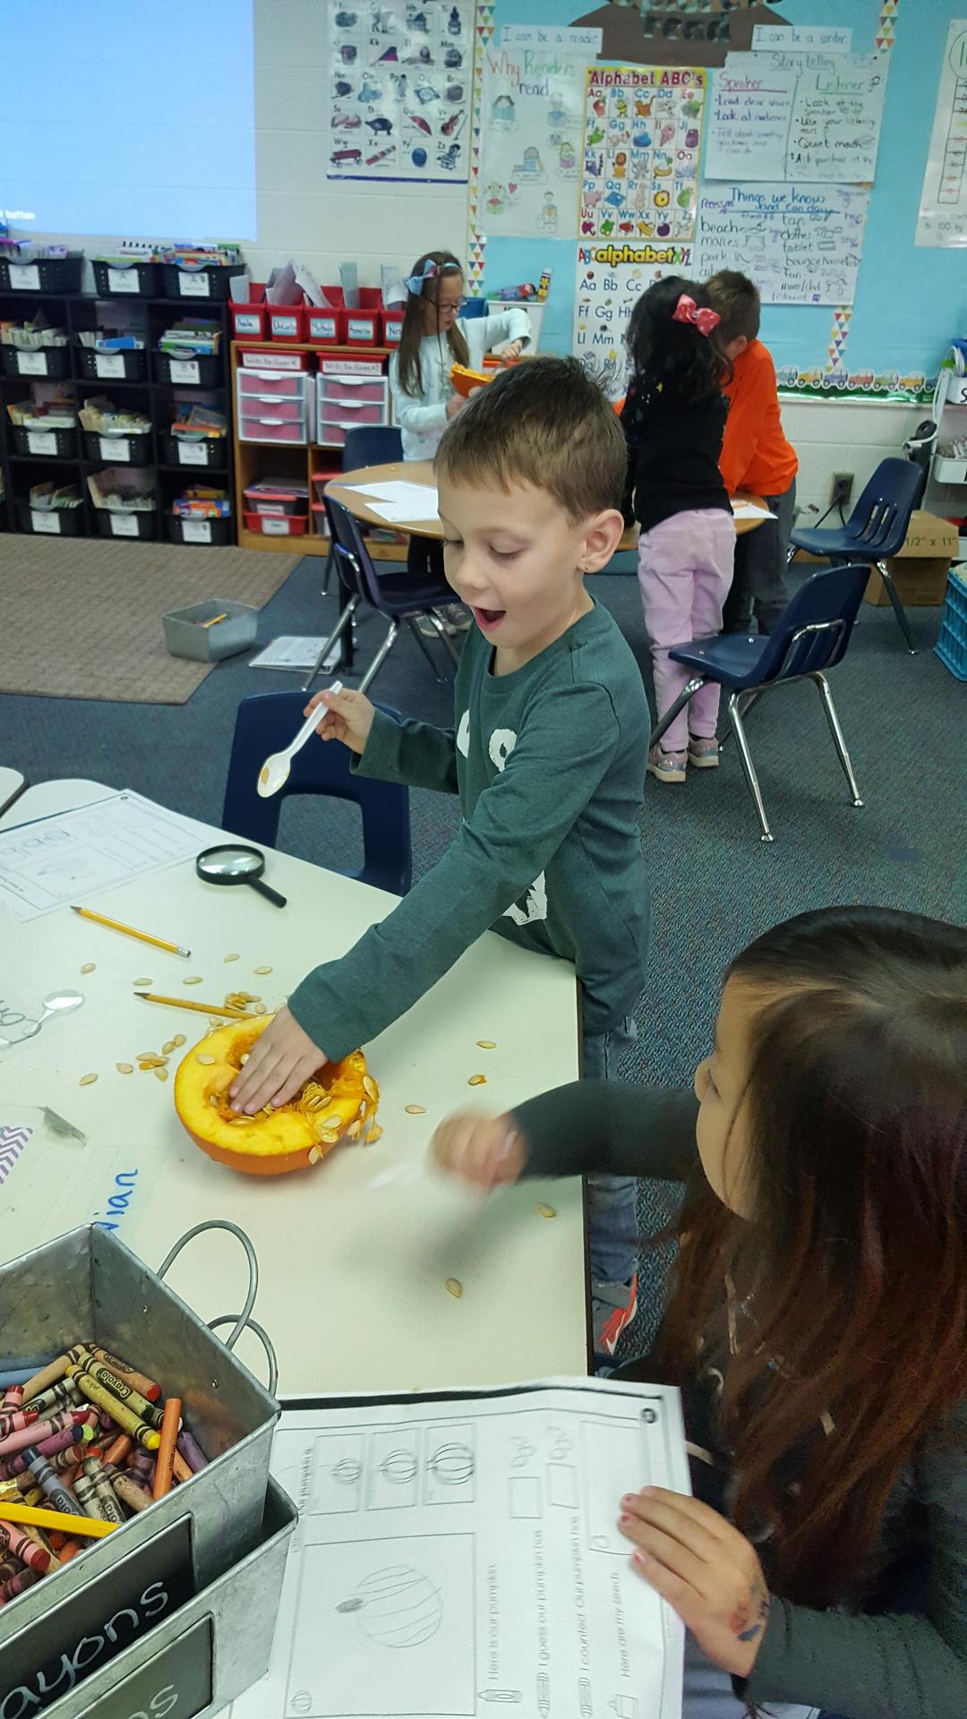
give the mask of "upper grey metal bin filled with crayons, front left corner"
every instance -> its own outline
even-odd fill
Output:
[[[96,1580],[167,1523],[191,1518],[198,1587],[237,1564],[262,1526],[279,1403],[143,1260],[95,1224],[0,1267],[0,1370],[62,1355],[81,1337],[179,1394],[210,1463],[3,1606],[0,1652],[12,1630]]]

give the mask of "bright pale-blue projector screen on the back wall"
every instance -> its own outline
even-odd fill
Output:
[[[0,0],[17,237],[255,239],[253,0]]]

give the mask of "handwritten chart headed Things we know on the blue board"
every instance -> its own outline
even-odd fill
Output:
[[[702,184],[699,277],[738,268],[764,304],[848,306],[865,210],[860,186]]]

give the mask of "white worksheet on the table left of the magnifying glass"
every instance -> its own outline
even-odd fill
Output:
[[[208,830],[124,789],[91,806],[0,830],[0,906],[15,920],[88,901],[206,846]]]

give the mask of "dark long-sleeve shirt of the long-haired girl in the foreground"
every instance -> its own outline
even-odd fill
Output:
[[[692,1092],[606,1081],[559,1086],[516,1110],[530,1176],[652,1176],[685,1181],[697,1164]],[[688,1425],[688,1389],[685,1394]],[[697,1394],[699,1398],[699,1394]],[[700,1399],[700,1398],[699,1398]],[[705,1427],[688,1435],[711,1447]],[[773,1597],[742,1693],[800,1702],[848,1719],[964,1719],[967,1714],[967,1403],[929,1434],[888,1499],[881,1587],[912,1569],[914,1612],[812,1611]]]

